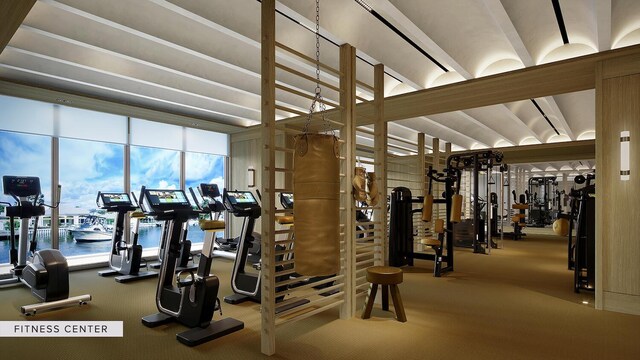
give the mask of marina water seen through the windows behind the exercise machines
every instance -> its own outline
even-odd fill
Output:
[[[150,249],[158,247],[160,237],[162,236],[161,226],[148,226],[141,227],[139,229],[138,244],[142,245],[143,249]],[[191,225],[187,230],[187,239],[191,242],[202,242],[204,238],[204,232],[197,225]],[[31,239],[29,239],[31,240]],[[16,247],[18,243],[16,241]],[[41,235],[38,236],[38,250],[51,248],[51,236]],[[11,249],[11,243],[9,240],[0,241],[0,264],[6,264],[9,262],[9,251]],[[96,242],[76,242],[69,232],[61,232],[60,235],[60,251],[64,256],[74,255],[87,255],[87,254],[105,254],[111,250],[111,241],[96,241]]]

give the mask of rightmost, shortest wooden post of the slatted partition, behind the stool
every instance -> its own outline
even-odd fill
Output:
[[[387,122],[384,121],[384,65],[378,64],[373,67],[373,105],[374,105],[374,160],[376,166],[376,178],[380,189],[381,199],[378,203],[379,209],[374,211],[374,221],[377,222],[381,231],[381,239],[376,240],[381,246],[380,257],[376,260],[376,265],[383,265],[386,261],[387,239]]]

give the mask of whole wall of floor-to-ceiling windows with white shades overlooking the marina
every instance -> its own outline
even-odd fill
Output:
[[[138,196],[141,186],[184,188],[187,194],[190,186],[203,182],[224,187],[227,135],[2,95],[0,109],[0,176],[40,177],[48,204],[52,188],[62,186],[60,229],[51,233],[47,210],[39,220],[39,248],[56,239],[67,257],[100,254],[97,261],[104,260],[115,214],[96,204],[98,191]],[[10,200],[4,195],[0,199]],[[88,235],[74,233],[89,223],[96,225]],[[8,237],[8,226],[0,216],[1,239]],[[144,219],[140,243],[146,249],[157,247],[160,231],[154,219]],[[190,227],[189,238],[202,241],[197,226]],[[9,247],[0,240],[0,264],[9,261]]]

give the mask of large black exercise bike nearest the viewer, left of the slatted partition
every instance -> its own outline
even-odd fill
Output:
[[[197,272],[182,270],[174,280],[183,225],[199,214],[191,207],[184,191],[151,190],[143,186],[140,190],[140,208],[157,220],[164,221],[166,229],[160,240],[164,245],[164,255],[156,290],[159,312],[143,317],[142,323],[147,327],[156,327],[177,321],[190,327],[191,329],[176,334],[178,341],[187,346],[199,345],[243,329],[244,323],[232,318],[212,322],[216,304],[220,304],[220,281],[217,276],[210,275],[212,238],[206,238],[202,245]]]

